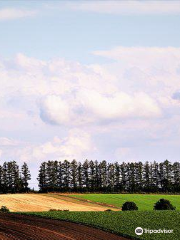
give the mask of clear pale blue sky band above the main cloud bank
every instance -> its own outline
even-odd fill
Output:
[[[63,4],[63,1],[2,2],[2,8],[18,7],[38,13],[23,20],[0,22],[1,56],[23,52],[40,59],[64,57],[92,63],[102,61],[91,55],[94,50],[119,45],[178,47],[180,44],[179,14],[97,14],[64,9]]]

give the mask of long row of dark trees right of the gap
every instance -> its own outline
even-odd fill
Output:
[[[43,162],[41,192],[180,192],[180,163]]]

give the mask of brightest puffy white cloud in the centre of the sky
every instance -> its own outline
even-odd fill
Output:
[[[76,92],[73,98],[62,100],[56,95],[41,101],[41,118],[50,124],[82,125],[124,118],[153,118],[161,116],[156,101],[145,93],[128,95],[117,92],[105,96],[96,91]]]

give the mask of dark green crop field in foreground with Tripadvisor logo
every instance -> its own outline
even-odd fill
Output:
[[[84,223],[103,230],[133,239],[144,240],[179,240],[180,212],[179,211],[131,211],[131,212],[38,212],[25,213],[59,220]],[[173,233],[153,233],[137,236],[135,228],[167,229]]]

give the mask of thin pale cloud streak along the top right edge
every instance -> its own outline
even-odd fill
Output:
[[[79,1],[67,3],[66,8],[107,14],[180,14],[179,1]]]

